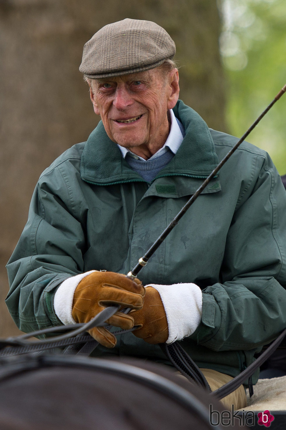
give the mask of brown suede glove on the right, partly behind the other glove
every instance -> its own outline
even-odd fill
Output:
[[[133,316],[134,326],[141,326],[132,333],[149,344],[162,344],[169,337],[164,305],[155,288],[147,286],[145,291],[142,309],[131,310],[129,313]]]

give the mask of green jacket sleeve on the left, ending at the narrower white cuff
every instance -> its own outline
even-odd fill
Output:
[[[27,224],[7,264],[6,304],[23,332],[61,325],[53,309],[55,291],[84,271],[85,234],[72,213],[67,184],[59,172],[56,181],[48,178],[43,175],[37,184]]]

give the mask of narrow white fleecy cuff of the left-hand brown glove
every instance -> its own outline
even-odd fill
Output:
[[[93,272],[96,272],[96,270],[90,270],[89,272],[71,276],[58,287],[54,297],[54,310],[55,314],[65,326],[68,324],[76,324],[72,316],[73,295],[80,281]]]

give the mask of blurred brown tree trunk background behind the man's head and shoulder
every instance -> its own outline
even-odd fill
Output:
[[[5,264],[40,173],[85,141],[98,118],[78,68],[84,43],[123,18],[157,22],[177,46],[180,98],[225,130],[215,0],[0,0],[0,336],[18,333],[4,299]]]

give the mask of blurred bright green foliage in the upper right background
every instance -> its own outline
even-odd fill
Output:
[[[240,137],[286,84],[286,1],[223,0],[220,49],[228,77],[227,123]],[[286,95],[248,140],[286,173]]]

